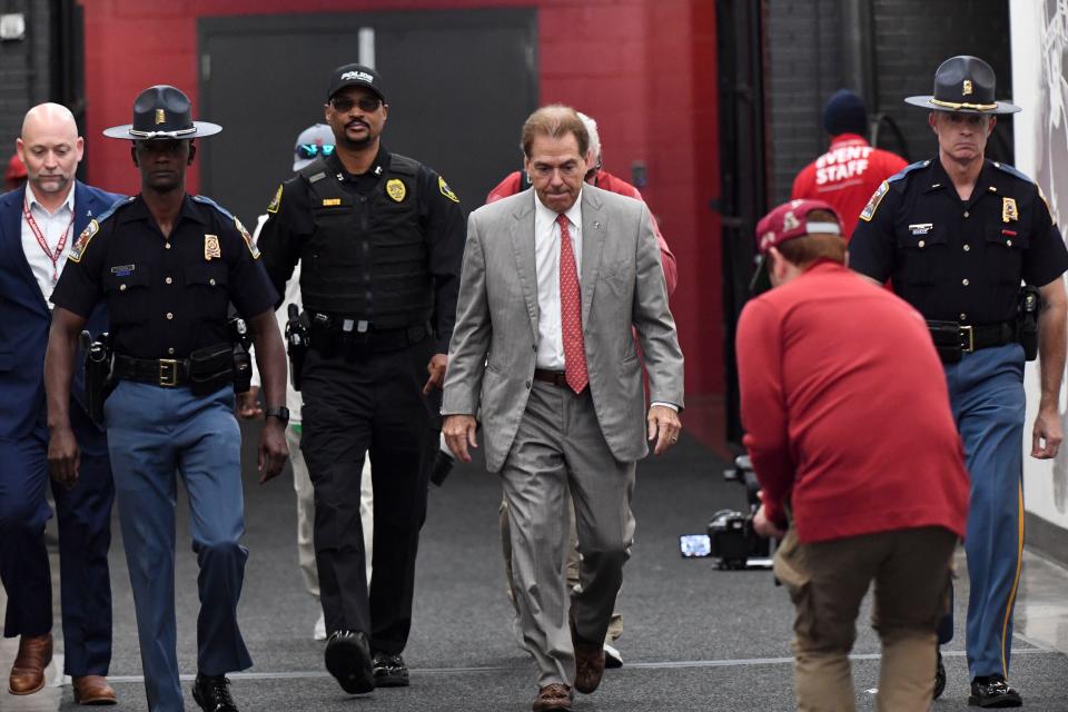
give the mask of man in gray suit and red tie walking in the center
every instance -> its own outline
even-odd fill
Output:
[[[584,693],[601,682],[634,533],[635,462],[646,437],[656,454],[679,439],[683,405],[649,209],[583,184],[587,147],[573,109],[538,109],[523,125],[533,190],[471,215],[442,408],[463,462],[478,415],[486,466],[501,473],[523,637],[540,673],[535,712],[571,710],[572,682]],[[570,616],[568,496],[582,554]]]

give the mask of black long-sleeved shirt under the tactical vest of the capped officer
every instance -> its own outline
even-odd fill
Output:
[[[353,196],[367,195],[382,180],[389,165],[389,151],[379,148],[375,162],[362,175],[345,170],[337,154],[326,157],[332,179]],[[426,237],[428,269],[434,278],[434,333],[436,352],[448,353],[448,342],[456,323],[456,297],[459,291],[461,263],[464,256],[466,229],[459,200],[434,169],[419,164],[418,176],[419,224]],[[264,254],[264,266],[278,294],[285,294],[286,283],[300,260],[304,240],[315,230],[308,200],[308,185],[294,176],[279,188],[267,208],[269,215],[259,233],[258,246]]]

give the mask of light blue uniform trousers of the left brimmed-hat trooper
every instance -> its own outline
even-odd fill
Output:
[[[175,624],[175,498],[180,474],[200,575],[197,668],[220,675],[251,666],[237,625],[248,550],[241,436],[229,386],[210,396],[123,380],[105,406],[151,712],[181,712]]]

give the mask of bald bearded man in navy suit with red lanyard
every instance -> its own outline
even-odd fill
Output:
[[[52,659],[52,591],[44,524],[49,429],[44,406],[44,348],[50,297],[78,235],[122,196],[75,179],[83,141],[75,117],[42,103],[26,115],[18,154],[24,187],[0,196],[0,580],[8,595],[4,636],[19,636],[8,691],[44,686]],[[87,325],[107,330],[103,307]],[[82,403],[81,369],[70,418],[81,448],[77,485],[53,484],[59,517],[65,672],[79,704],[115,704],[107,683],[111,661],[108,547],[115,488],[107,437]]]

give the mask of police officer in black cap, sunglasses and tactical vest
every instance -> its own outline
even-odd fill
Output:
[[[334,70],[325,113],[335,151],[278,188],[259,236],[279,293],[301,263],[310,348],[300,447],[315,487],[326,668],[353,694],[408,684],[400,653],[464,248],[459,201],[445,180],[380,145],[388,112],[375,70]],[[367,452],[369,593],[359,520]]]

